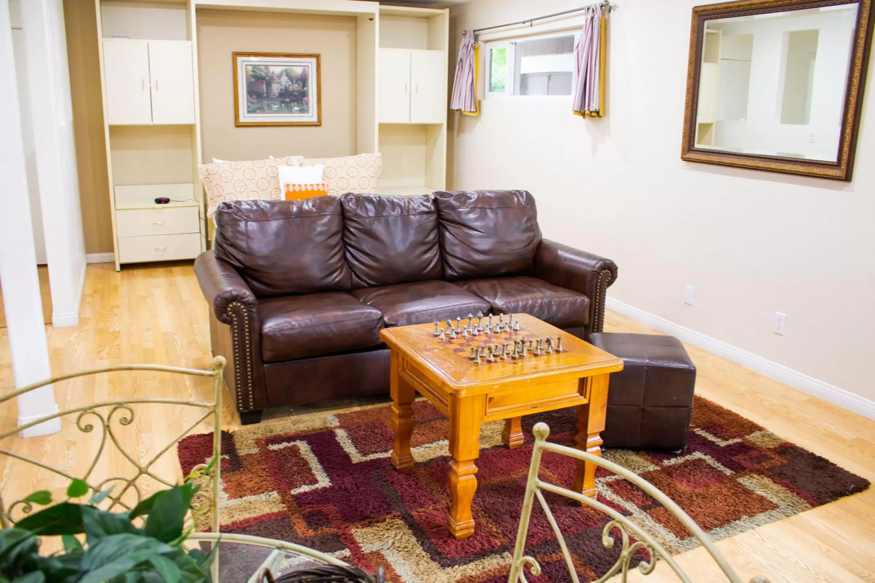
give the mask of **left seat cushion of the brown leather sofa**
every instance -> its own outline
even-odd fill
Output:
[[[259,300],[266,363],[356,350],[381,343],[379,309],[343,292]]]

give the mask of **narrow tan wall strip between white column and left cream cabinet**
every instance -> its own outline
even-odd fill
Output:
[[[64,0],[64,21],[85,253],[112,253],[95,3]]]

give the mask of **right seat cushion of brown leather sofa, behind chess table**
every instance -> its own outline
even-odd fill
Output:
[[[589,323],[588,297],[536,277],[495,277],[458,285],[489,302],[493,314],[528,314],[557,328]]]

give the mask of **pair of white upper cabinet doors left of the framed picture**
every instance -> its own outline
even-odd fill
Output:
[[[109,125],[194,123],[192,43],[103,40]]]

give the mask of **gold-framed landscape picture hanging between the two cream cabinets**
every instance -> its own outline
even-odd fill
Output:
[[[235,125],[320,126],[319,55],[234,53]]]

